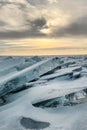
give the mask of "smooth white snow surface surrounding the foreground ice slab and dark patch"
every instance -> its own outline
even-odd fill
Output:
[[[7,103],[0,107],[0,130],[26,130],[26,128],[21,125],[22,118],[49,123],[50,125],[44,128],[44,130],[87,130],[87,96],[85,96],[83,103],[74,106],[60,105],[56,108],[42,109],[32,105],[33,103],[47,99],[65,96],[72,92],[76,94],[75,96],[84,98],[84,94],[80,93],[80,91],[87,88],[87,75],[85,74],[87,73],[87,68],[84,68],[83,64],[81,64],[85,57],[86,56],[60,57],[65,63],[69,62],[69,60],[71,62],[73,59],[75,65],[77,65],[74,67],[67,67],[67,65],[63,67],[61,65],[62,68],[60,70],[58,69],[56,72],[52,72],[52,74],[42,76],[37,81],[26,83],[27,86],[32,84],[33,87],[6,95],[5,99]],[[5,58],[1,58],[0,62],[4,60]],[[85,60],[85,62],[87,62],[87,60]],[[79,67],[82,67],[82,69],[76,69]],[[4,66],[2,69],[4,69]],[[73,71],[73,69],[76,69],[76,71]],[[81,76],[78,78],[73,78],[73,75],[69,77],[69,72],[72,72],[73,75],[80,73]],[[59,78],[58,75],[61,75],[61,73],[62,76]],[[64,76],[65,73],[68,77]],[[48,81],[48,77],[56,74],[57,76],[54,76],[53,79]],[[3,77],[0,79],[1,82]],[[44,82],[44,80],[41,79],[46,80]]]

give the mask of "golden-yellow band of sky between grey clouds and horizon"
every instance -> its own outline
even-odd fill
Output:
[[[87,52],[86,39],[79,42],[71,42],[71,39],[67,42],[66,39],[9,40],[6,44],[8,47],[2,46],[4,53],[2,51],[0,55],[77,55]]]

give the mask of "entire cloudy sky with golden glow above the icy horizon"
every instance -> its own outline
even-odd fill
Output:
[[[87,54],[87,0],[0,0],[0,55]]]

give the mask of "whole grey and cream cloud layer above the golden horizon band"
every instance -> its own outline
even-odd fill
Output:
[[[82,16],[87,11],[86,3],[87,0],[58,0],[57,2],[55,0],[0,0],[0,6],[4,6],[0,8],[0,39],[47,38],[48,35],[49,37],[85,37],[87,36],[87,16]],[[66,14],[65,21],[69,23],[67,26],[61,27],[64,20],[61,11],[64,11],[64,15]],[[66,20],[67,12],[71,16],[69,20]],[[79,16],[81,18],[78,18]],[[58,17],[59,24],[57,24]],[[43,33],[41,32],[41,29],[46,29],[46,27],[48,29],[47,23],[51,30],[49,32],[52,32],[48,35],[43,30]]]

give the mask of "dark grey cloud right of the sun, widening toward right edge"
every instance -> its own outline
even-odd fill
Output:
[[[57,28],[53,35],[55,37],[87,36],[87,16],[80,17],[65,27]]]

